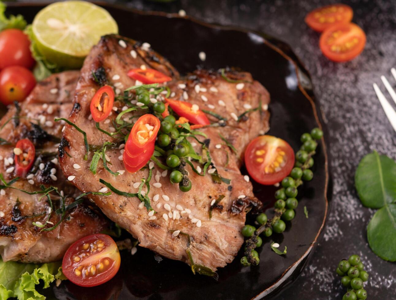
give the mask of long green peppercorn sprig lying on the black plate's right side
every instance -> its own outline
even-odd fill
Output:
[[[286,229],[285,221],[294,219],[295,209],[298,205],[297,187],[303,184],[303,181],[310,181],[313,178],[313,173],[310,170],[314,165],[312,156],[318,146],[316,140],[320,140],[322,136],[323,131],[319,128],[314,128],[311,133],[304,133],[301,136],[303,145],[295,155],[295,167],[289,176],[282,180],[282,188],[275,192],[274,217],[268,219],[265,213],[261,213],[256,217],[256,222],[260,225],[258,229],[252,225],[245,225],[242,228],[242,235],[249,238],[246,241],[245,256],[241,258],[243,266],[257,265],[260,262],[259,255],[254,250],[255,247],[260,247],[263,242],[259,234],[268,238],[273,232],[282,233]]]

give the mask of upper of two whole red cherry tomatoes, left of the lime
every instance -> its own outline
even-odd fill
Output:
[[[30,40],[22,30],[0,32],[0,70],[9,66],[32,68],[35,61],[29,47]]]

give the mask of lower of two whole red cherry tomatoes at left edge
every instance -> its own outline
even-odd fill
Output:
[[[4,105],[23,101],[36,85],[32,72],[20,66],[12,66],[0,72],[0,101]]]

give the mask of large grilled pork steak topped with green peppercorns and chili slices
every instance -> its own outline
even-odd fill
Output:
[[[93,47],[86,58],[76,87],[75,109],[72,110],[69,121],[86,132],[89,145],[101,147],[109,141],[117,142],[117,145],[122,143],[122,141],[99,131],[95,127],[95,121],[91,119],[89,105],[93,95],[99,89],[100,83],[114,86],[116,94],[123,95],[124,89],[137,84],[135,80],[126,75],[128,70],[133,68],[154,68],[173,77],[174,80],[178,79],[177,71],[166,60],[146,48],[144,44],[141,45],[120,36],[105,36],[98,45]],[[93,76],[98,70],[101,70],[101,74],[105,74],[102,76],[102,80]],[[202,103],[201,96],[205,95],[208,98],[208,104],[215,105],[215,102],[219,100],[218,95],[221,94],[224,96],[223,101],[227,107],[227,113],[225,113],[225,109],[217,108],[218,113],[222,115],[231,112],[236,115],[242,113],[238,111],[241,106],[238,101],[242,100],[255,108],[258,105],[259,94],[262,94],[263,104],[268,103],[267,91],[259,83],[252,81],[251,76],[246,73],[234,74],[235,76],[244,76],[252,81],[252,83],[244,85],[243,91],[236,91],[235,83],[228,83],[225,80],[223,82],[219,75],[213,74],[212,76],[204,71],[202,71],[202,75],[199,72],[197,74],[198,79],[188,79],[170,84],[175,92],[174,96],[183,99],[184,94],[187,101]],[[195,80],[199,80],[199,82],[202,80],[202,88],[206,87],[206,92],[202,91],[201,93],[201,90],[199,94],[192,92]],[[185,93],[179,89],[179,83],[187,83],[186,88],[182,85],[183,89],[186,89]],[[209,92],[212,84],[217,87],[218,95]],[[243,93],[242,96],[241,93]],[[114,102],[114,106],[113,113],[105,121],[99,123],[100,128],[107,132],[114,132],[114,119],[122,109],[126,108],[126,103],[118,98]],[[213,110],[213,108],[211,109]],[[138,111],[140,115],[143,113],[145,112]],[[123,115],[124,121],[127,122],[128,117],[131,116],[130,114]],[[219,133],[224,133],[228,138],[232,132],[237,132],[241,136],[248,133],[255,136],[259,130],[268,128],[266,112],[259,115],[259,112],[256,111],[249,117],[252,118],[251,122],[244,120],[245,123],[238,124],[235,121],[230,121],[230,128],[226,123],[223,124],[227,125],[226,127],[200,129],[206,137],[198,136],[198,138],[208,145],[212,158],[210,168],[213,170],[205,176],[200,176],[193,172],[189,165],[186,165],[185,169],[189,172],[188,176],[192,182],[192,189],[189,192],[181,192],[177,185],[171,184],[166,171],[157,166],[152,169],[148,198],[155,210],[154,215],[153,211],[148,213],[137,197],[121,196],[112,192],[110,196],[89,195],[89,198],[110,219],[137,238],[142,247],[147,247],[165,257],[190,264],[186,253],[187,235],[189,235],[189,249],[194,264],[207,266],[211,270],[225,266],[233,260],[243,243],[240,231],[245,223],[246,210],[249,209],[249,206],[260,204],[253,195],[251,184],[240,173],[238,159],[225,145]],[[230,120],[229,117],[227,118]],[[262,120],[261,123],[254,125],[254,120],[259,118]],[[238,155],[242,153],[247,139],[241,137],[232,140],[232,143],[238,147]],[[190,142],[197,153],[202,153],[199,143],[193,139],[190,139]],[[86,148],[83,135],[73,126],[66,125],[63,143],[59,147],[59,161],[64,174],[75,176],[72,182],[83,192],[106,191],[105,185],[99,182],[99,179],[102,179],[110,183],[109,187],[118,191],[136,193],[142,179],[148,178],[149,170],[144,168],[134,174],[126,172],[122,162],[122,147],[121,144],[120,147],[112,147],[106,152],[109,168],[113,172],[120,172],[120,175],[114,176],[107,172],[103,168],[102,161],[97,166],[96,174],[93,174],[89,171],[93,157],[92,151],[89,151],[88,159],[84,160]],[[197,163],[193,162],[193,164],[196,166]],[[216,172],[214,169],[221,177],[230,179],[230,184],[214,183],[209,174],[215,174],[213,173],[213,171]],[[147,193],[145,185],[143,191]],[[219,198],[223,199],[211,207],[213,200]],[[210,208],[213,209],[211,219],[209,218]]]

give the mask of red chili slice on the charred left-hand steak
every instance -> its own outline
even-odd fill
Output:
[[[34,163],[34,157],[36,156],[36,147],[28,139],[19,140],[14,148],[15,154],[15,172],[18,177],[25,177],[30,168]]]

